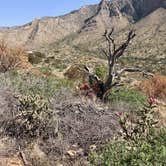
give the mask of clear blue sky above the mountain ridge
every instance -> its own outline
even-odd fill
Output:
[[[34,18],[59,16],[100,0],[0,0],[0,26],[22,25]]]

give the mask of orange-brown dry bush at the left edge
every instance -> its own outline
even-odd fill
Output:
[[[15,68],[29,68],[30,63],[22,47],[9,48],[7,43],[0,41],[0,71],[6,72]]]

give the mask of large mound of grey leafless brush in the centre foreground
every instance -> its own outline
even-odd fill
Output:
[[[100,144],[113,137],[118,130],[118,122],[113,110],[92,101],[73,98],[54,103],[59,116],[59,132],[68,145],[78,145],[88,149],[90,145]],[[63,144],[64,144],[63,143]]]

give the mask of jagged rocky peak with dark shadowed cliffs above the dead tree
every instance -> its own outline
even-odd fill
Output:
[[[88,31],[116,27],[120,30],[163,7],[164,2],[165,0],[102,0],[96,14],[86,20],[83,29]]]

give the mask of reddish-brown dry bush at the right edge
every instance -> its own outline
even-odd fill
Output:
[[[155,75],[154,77],[144,80],[140,83],[139,89],[148,96],[159,99],[166,97],[166,76]]]

